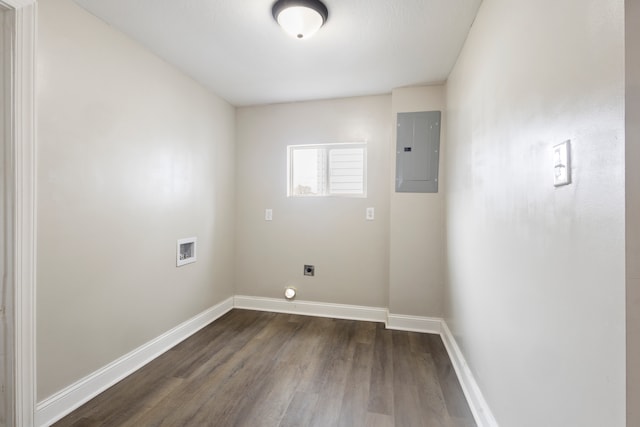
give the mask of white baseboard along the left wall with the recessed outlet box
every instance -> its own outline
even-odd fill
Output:
[[[36,405],[35,425],[49,426],[233,308],[228,298]]]

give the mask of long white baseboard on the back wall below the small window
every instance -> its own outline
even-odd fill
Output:
[[[330,304],[312,301],[287,301],[285,299],[236,295],[235,308],[272,311],[276,313],[302,314],[306,316],[332,317],[334,319],[385,322],[387,309],[359,305]]]

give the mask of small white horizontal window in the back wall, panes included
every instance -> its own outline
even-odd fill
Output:
[[[290,145],[289,197],[365,197],[366,143]]]

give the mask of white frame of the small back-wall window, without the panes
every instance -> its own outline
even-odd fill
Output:
[[[362,194],[339,194],[329,193],[329,152],[334,149],[348,149],[348,148],[362,148]],[[324,173],[324,191],[322,194],[294,194],[293,191],[293,152],[295,150],[305,149],[324,149],[327,150],[326,154],[326,168]],[[367,142],[337,142],[327,144],[300,144],[287,146],[287,197],[295,198],[318,198],[318,197],[339,197],[339,198],[366,198],[367,197]]]

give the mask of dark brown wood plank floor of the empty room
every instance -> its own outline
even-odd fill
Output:
[[[233,310],[55,426],[475,426],[438,335]]]

